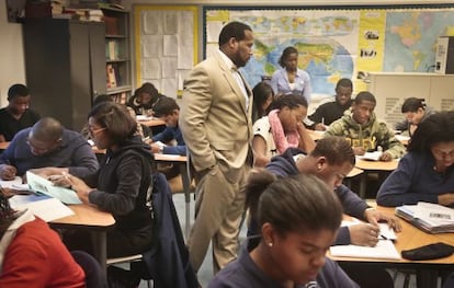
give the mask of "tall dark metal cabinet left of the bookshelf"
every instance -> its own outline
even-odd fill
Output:
[[[80,130],[92,97],[106,93],[104,23],[26,19],[23,37],[33,108]]]

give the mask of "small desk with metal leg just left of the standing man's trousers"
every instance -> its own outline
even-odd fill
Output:
[[[183,191],[184,191],[184,201],[185,201],[185,228],[184,234],[188,239],[189,232],[191,229],[191,178],[189,175],[189,171],[186,169],[188,164],[188,157],[185,155],[171,155],[171,154],[155,154],[155,160],[157,162],[166,162],[166,163],[173,163],[179,166],[181,178],[183,182]]]

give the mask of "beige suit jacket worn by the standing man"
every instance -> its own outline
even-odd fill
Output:
[[[249,105],[220,55],[191,71],[184,81],[179,125],[196,171],[218,165],[229,182],[251,153],[252,93],[246,83]]]

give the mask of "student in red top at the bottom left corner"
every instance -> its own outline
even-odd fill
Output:
[[[86,276],[59,235],[0,193],[0,287],[84,288]]]

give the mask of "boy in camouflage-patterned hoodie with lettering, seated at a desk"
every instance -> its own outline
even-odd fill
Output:
[[[376,100],[371,92],[360,92],[353,101],[351,113],[345,112],[342,118],[333,122],[325,136],[344,137],[350,141],[356,155],[377,151],[381,147],[381,161],[400,158],[405,153],[405,147],[386,124],[376,118],[375,105]]]

